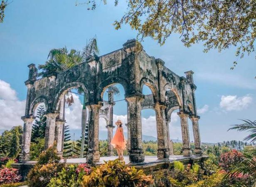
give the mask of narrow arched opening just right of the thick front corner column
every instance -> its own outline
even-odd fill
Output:
[[[153,92],[149,86],[144,84],[142,93],[145,96],[141,103],[143,151],[146,156],[156,156],[158,152],[158,139]]]

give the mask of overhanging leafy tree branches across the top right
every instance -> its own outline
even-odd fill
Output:
[[[86,3],[89,10],[96,8],[96,0]],[[186,47],[203,42],[204,52],[221,52],[235,46],[237,58],[243,58],[254,52],[256,1],[129,0],[127,12],[113,25],[118,30],[123,24],[138,31],[139,41],[151,37],[163,45],[171,34],[179,33]]]

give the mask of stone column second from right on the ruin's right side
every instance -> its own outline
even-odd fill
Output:
[[[181,133],[182,133],[182,153],[184,156],[192,155],[192,151],[190,149],[190,133],[188,129],[187,117],[189,116],[185,112],[178,112],[180,116],[180,124],[181,124]]]

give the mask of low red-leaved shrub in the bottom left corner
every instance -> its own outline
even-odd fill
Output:
[[[17,169],[6,167],[0,169],[0,185],[20,182],[20,180],[21,176]]]

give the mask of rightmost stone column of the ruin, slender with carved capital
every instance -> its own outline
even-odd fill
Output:
[[[199,132],[199,125],[198,120],[200,119],[199,116],[190,116],[192,121],[193,127],[193,134],[194,134],[194,153],[195,155],[202,155],[202,148],[201,148],[201,139],[200,139],[200,132]]]

